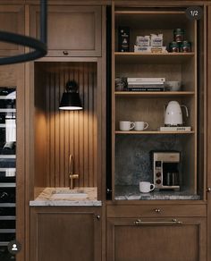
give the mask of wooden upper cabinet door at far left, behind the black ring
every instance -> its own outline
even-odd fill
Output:
[[[1,30],[24,35],[24,6],[0,5]],[[0,41],[0,56],[19,55],[23,46]]]

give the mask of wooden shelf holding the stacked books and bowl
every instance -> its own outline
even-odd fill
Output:
[[[186,97],[194,96],[194,91],[115,91],[115,97]]]

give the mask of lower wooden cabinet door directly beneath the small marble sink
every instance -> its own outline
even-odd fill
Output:
[[[33,207],[30,261],[101,260],[100,208]]]

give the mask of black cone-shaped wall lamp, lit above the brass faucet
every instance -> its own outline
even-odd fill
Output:
[[[63,93],[63,97],[59,105],[60,110],[82,110],[78,89],[79,86],[75,80],[69,80],[66,83],[66,92]]]

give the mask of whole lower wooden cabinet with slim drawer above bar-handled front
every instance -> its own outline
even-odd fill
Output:
[[[107,261],[207,260],[206,205],[109,205],[106,215]]]

